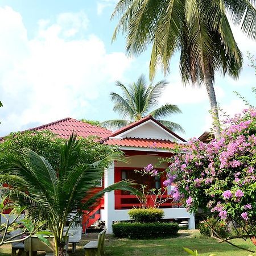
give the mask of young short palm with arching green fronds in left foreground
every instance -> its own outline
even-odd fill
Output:
[[[69,226],[90,210],[105,192],[122,189],[136,193],[130,181],[120,181],[95,193],[94,187],[102,179],[104,169],[121,153],[114,152],[94,163],[82,163],[81,143],[72,135],[61,148],[60,165],[53,170],[51,164],[36,152],[24,148],[20,157],[4,155],[0,162],[0,192],[8,195],[13,204],[26,207],[28,217],[46,221],[55,239],[55,255],[65,255],[65,222]]]

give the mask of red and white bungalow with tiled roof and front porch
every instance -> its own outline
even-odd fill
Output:
[[[96,135],[101,138],[101,143],[118,146],[125,153],[129,161],[127,163],[113,162],[109,169],[105,170],[104,179],[99,189],[108,187],[122,179],[132,179],[137,183],[147,185],[147,188],[163,187],[164,177],[142,176],[134,170],[141,170],[150,163],[155,165],[160,157],[172,155],[171,149],[176,143],[186,142],[151,116],[144,117],[114,132],[73,118],[61,119],[30,130],[46,129],[61,138],[68,138],[73,131],[79,137],[84,138]],[[158,169],[165,170],[166,167],[167,163],[162,163]],[[168,187],[167,192],[170,189],[171,187]],[[164,195],[165,198],[168,197],[167,192]],[[139,207],[139,205],[137,197],[130,195],[130,193],[123,191],[109,192],[105,194],[101,203],[89,215],[84,215],[82,224],[85,229],[85,224],[89,227],[97,220],[105,221],[108,233],[111,234],[113,222],[130,220],[129,209],[134,206]],[[151,198],[148,198],[147,205],[152,205]],[[195,229],[194,215],[187,212],[181,204],[174,203],[170,199],[163,203],[160,208],[164,210],[165,219],[187,219],[189,229]]]

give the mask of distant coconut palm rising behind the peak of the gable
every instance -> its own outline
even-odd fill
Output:
[[[161,119],[171,114],[181,113],[181,110],[176,105],[165,104],[160,108],[156,108],[159,105],[159,97],[167,86],[166,81],[162,80],[155,85],[150,84],[147,86],[144,76],[141,75],[137,82],[133,82],[129,86],[125,86],[120,81],[117,81],[116,85],[122,90],[123,96],[114,92],[110,93],[110,96],[114,102],[114,112],[122,115],[123,119],[104,121],[100,123],[101,126],[118,129],[138,121],[146,115],[152,115],[170,130],[184,132],[179,124]]]

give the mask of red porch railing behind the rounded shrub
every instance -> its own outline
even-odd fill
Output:
[[[169,196],[163,195],[162,201],[166,200]],[[155,196],[147,196],[147,207],[153,207]],[[174,203],[172,198],[165,201],[160,205],[160,208],[179,208],[181,203]],[[131,209],[134,207],[142,207],[141,203],[134,195],[115,195],[115,209]]]

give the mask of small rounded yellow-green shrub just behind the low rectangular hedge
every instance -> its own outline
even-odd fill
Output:
[[[129,215],[131,217],[131,220],[134,220],[135,222],[157,222],[159,220],[162,220],[164,216],[164,211],[155,208],[139,208],[129,210]]]

